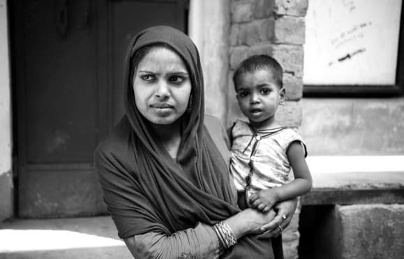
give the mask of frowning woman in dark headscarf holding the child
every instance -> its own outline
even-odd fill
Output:
[[[269,239],[255,235],[275,212],[237,207],[227,138],[220,121],[204,117],[200,58],[190,38],[171,27],[145,29],[130,43],[125,65],[126,115],[98,146],[96,167],[133,256],[271,256]],[[295,205],[279,205],[273,235]]]

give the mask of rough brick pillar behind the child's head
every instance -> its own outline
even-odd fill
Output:
[[[232,74],[237,65],[253,54],[269,54],[283,66],[285,105],[276,117],[280,124],[298,128],[301,124],[303,91],[304,16],[308,0],[232,0],[230,1],[230,50],[227,91],[227,119],[230,126],[244,118],[235,98]],[[245,118],[244,118],[245,119]],[[297,258],[299,212],[283,235],[285,258]]]

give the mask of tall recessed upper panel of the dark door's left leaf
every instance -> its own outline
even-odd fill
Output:
[[[67,29],[61,34],[55,19],[61,10],[55,10],[54,1],[40,1],[40,6],[27,1],[31,15],[24,24],[24,90],[29,164],[89,163],[97,143],[96,34],[85,23],[88,1],[64,2]]]

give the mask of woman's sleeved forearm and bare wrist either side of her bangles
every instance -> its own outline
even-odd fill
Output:
[[[262,213],[245,209],[223,222],[239,239],[244,235],[262,233],[262,226],[274,216],[274,210]],[[135,258],[218,258],[223,253],[223,246],[214,228],[202,223],[173,235],[158,232],[135,235],[125,239],[125,243]]]

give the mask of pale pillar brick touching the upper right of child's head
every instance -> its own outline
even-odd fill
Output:
[[[285,72],[303,77],[303,46],[276,44],[273,48],[273,57],[278,60]]]

